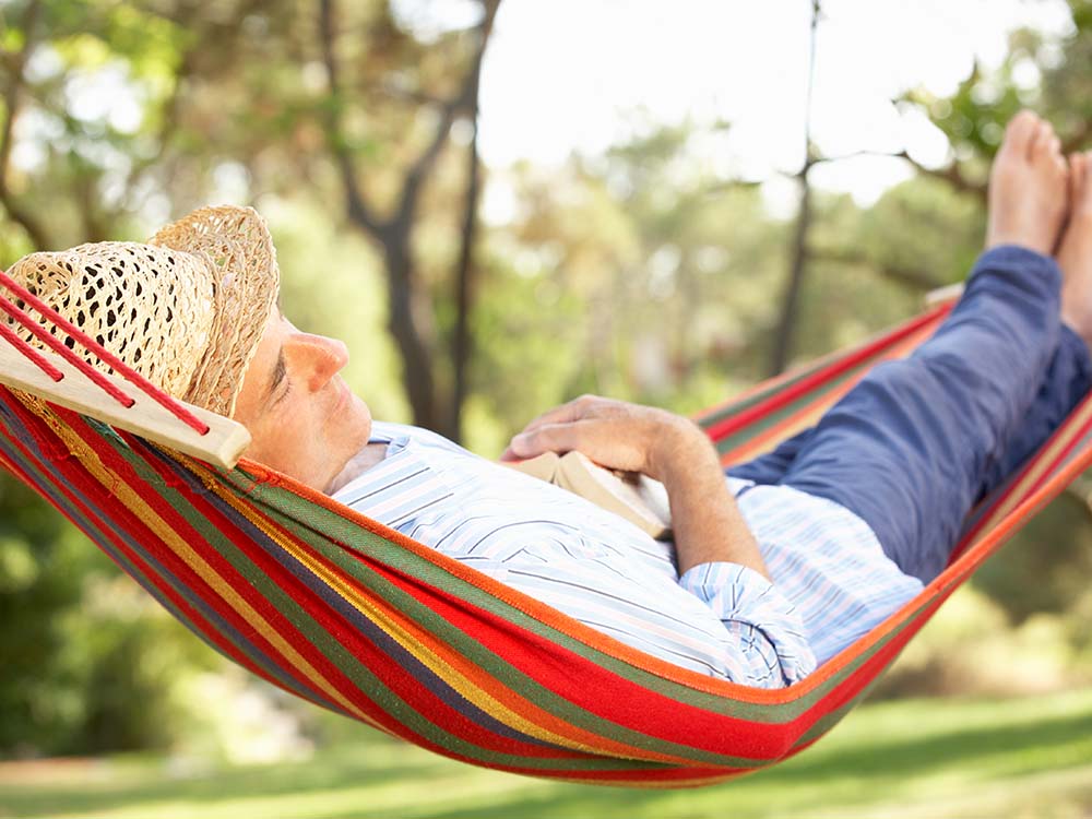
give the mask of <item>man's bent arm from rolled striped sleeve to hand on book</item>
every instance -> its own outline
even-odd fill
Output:
[[[715,661],[721,673],[744,685],[779,687],[815,668],[804,624],[771,584],[716,451],[697,426],[662,410],[585,395],[532,422],[502,459],[573,449],[604,466],[641,472],[666,487],[678,586],[704,604],[726,632],[711,636],[710,643],[711,649],[714,643],[723,646]],[[563,569],[551,567],[549,574]],[[630,601],[627,594],[618,591],[615,598],[649,604],[644,598]],[[666,598],[653,603],[669,605]],[[681,600],[679,606],[681,612]]]

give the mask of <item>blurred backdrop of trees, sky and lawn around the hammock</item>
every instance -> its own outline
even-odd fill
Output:
[[[692,413],[910,317],[1025,106],[1092,147],[1092,3],[0,0],[0,265],[253,205],[372,413],[495,458],[582,392]],[[661,794],[292,702],[0,475],[0,816],[1092,816],[1090,499],[814,750]]]

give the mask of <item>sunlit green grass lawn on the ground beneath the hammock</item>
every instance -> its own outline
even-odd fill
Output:
[[[0,817],[1092,817],[1092,689],[865,705],[776,768],[698,791],[559,784],[461,765],[361,729],[306,762],[110,757],[0,763]]]

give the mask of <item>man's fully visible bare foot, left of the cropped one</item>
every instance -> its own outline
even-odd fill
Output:
[[[986,247],[1020,245],[1053,253],[1066,216],[1069,170],[1048,122],[1020,111],[989,173]]]

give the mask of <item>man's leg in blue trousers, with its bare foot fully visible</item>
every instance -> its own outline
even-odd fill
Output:
[[[986,482],[1037,443],[1022,424],[1052,368],[1064,376],[1068,366],[1054,367],[1071,347],[1059,346],[1060,275],[1046,256],[1065,189],[1053,131],[1021,115],[990,180],[992,249],[960,304],[914,355],[876,367],[782,453],[792,458],[781,460],[781,483],[857,513],[902,570],[923,580],[946,565]],[[1044,429],[1065,404],[1046,390]]]

